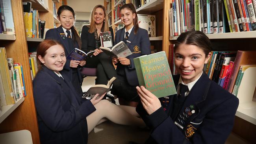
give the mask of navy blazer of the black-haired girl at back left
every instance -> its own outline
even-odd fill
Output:
[[[72,35],[73,32],[72,32]],[[64,50],[65,50],[65,55],[69,55],[70,51],[69,51],[69,42],[67,41],[67,37],[65,36],[65,33],[63,31],[63,28],[61,26],[59,26],[58,28],[52,28],[50,30],[48,30],[45,34],[45,39],[53,39],[58,41],[59,43],[61,43],[64,46]],[[78,43],[76,42],[75,48],[79,48]],[[73,50],[74,48],[72,48]],[[64,65],[63,68],[63,72],[69,76],[69,79],[72,78],[72,69],[70,67],[70,60],[67,59],[66,64]],[[79,83],[82,83],[82,77],[79,71],[79,66],[77,67],[77,74],[78,74],[78,80]],[[72,81],[72,79],[71,79]]]

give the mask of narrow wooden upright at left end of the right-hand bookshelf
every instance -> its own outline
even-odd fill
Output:
[[[169,26],[169,9],[171,7],[170,0],[164,0],[163,2],[163,51],[165,51],[167,59],[169,59],[169,33],[170,33],[170,26]]]

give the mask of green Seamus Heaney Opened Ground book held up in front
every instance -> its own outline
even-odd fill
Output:
[[[177,93],[165,52],[134,58],[134,65],[139,85],[158,98]]]

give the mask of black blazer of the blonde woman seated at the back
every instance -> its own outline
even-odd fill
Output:
[[[114,42],[114,33],[113,29],[109,27],[109,31],[111,32],[112,42]],[[82,50],[84,52],[90,52],[92,50],[95,50],[95,35],[94,33],[89,33],[89,27],[83,26],[82,32],[81,32],[81,41],[82,41]]]

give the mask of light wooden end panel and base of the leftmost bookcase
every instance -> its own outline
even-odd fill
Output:
[[[32,133],[33,143],[40,144],[27,55],[28,46],[23,21],[22,0],[12,0],[12,8],[16,40],[14,42],[1,42],[1,44],[6,47],[7,57],[13,57],[14,62],[22,63],[27,96],[24,102],[0,124],[0,133],[27,129]]]

